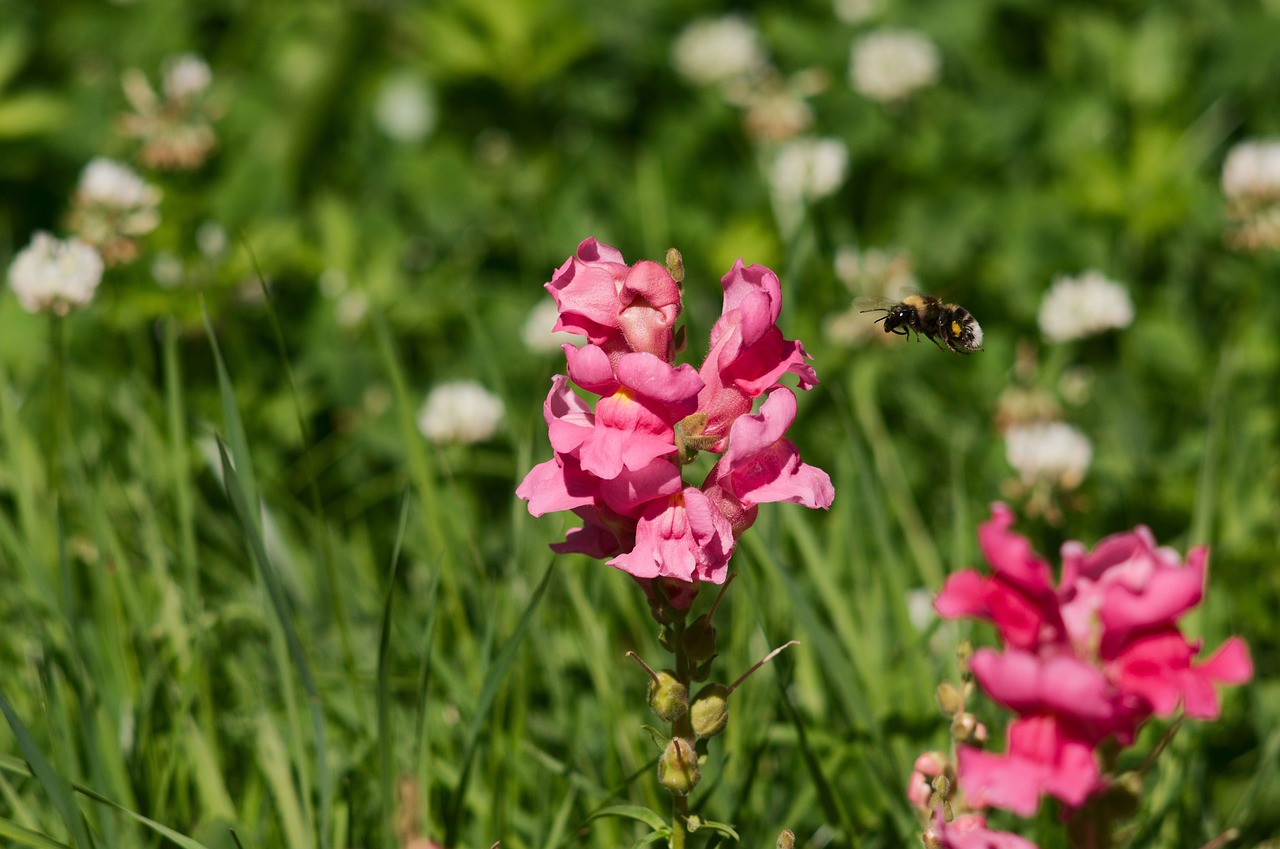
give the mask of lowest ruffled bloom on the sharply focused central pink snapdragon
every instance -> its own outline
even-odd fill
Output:
[[[650,503],[636,525],[632,551],[609,561],[636,578],[724,583],[733,531],[708,498],[692,487]]]

